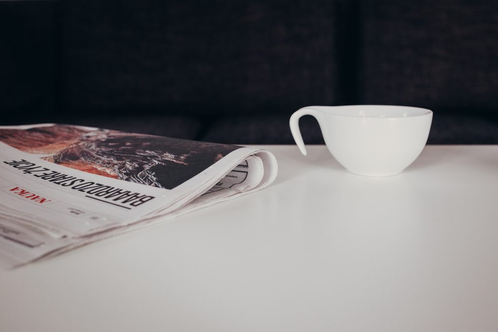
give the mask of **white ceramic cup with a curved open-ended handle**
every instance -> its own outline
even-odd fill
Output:
[[[325,144],[349,172],[365,176],[401,173],[422,152],[432,122],[432,111],[405,106],[310,106],[295,111],[290,129],[306,155],[299,118],[318,120]]]

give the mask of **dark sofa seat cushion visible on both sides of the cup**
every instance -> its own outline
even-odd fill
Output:
[[[306,144],[324,144],[316,119],[303,116],[299,127]],[[201,139],[227,144],[294,144],[288,116],[219,119]],[[476,116],[435,114],[427,143],[498,144],[498,122]]]

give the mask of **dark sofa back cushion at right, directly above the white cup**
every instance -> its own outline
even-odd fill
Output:
[[[497,117],[498,2],[360,1],[361,104]]]

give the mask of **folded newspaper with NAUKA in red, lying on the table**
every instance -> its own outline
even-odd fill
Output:
[[[65,124],[0,126],[0,264],[22,265],[254,192],[264,150]]]

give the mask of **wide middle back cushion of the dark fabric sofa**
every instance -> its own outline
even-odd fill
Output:
[[[330,1],[68,0],[62,8],[67,109],[278,113],[339,97]]]

